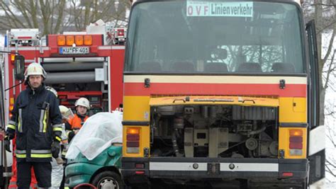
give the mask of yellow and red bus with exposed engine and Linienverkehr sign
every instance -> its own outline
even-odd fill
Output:
[[[298,0],[133,1],[125,183],[323,183],[316,52],[314,23],[305,25]]]

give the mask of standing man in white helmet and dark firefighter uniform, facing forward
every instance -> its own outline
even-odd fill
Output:
[[[40,64],[29,64],[25,72],[27,88],[16,98],[6,130],[7,140],[16,134],[18,189],[29,188],[32,167],[38,187],[50,188],[50,161],[60,153],[62,115],[57,98],[45,88],[46,76]]]

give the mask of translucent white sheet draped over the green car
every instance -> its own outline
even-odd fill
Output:
[[[66,158],[75,159],[82,153],[92,160],[113,142],[123,142],[123,113],[97,113],[86,120],[69,145]]]

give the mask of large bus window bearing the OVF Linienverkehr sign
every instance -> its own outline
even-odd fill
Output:
[[[125,72],[305,73],[301,19],[298,6],[280,2],[135,4]]]

